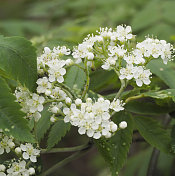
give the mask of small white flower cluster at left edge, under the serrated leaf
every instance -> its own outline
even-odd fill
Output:
[[[6,136],[3,134],[2,130],[0,129],[0,155],[4,152],[9,153],[11,149],[15,147],[15,143],[13,142],[13,137]]]

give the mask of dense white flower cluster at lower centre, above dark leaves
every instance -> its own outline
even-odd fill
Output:
[[[81,99],[76,99],[70,108],[63,109],[64,121],[77,126],[80,134],[86,133],[88,137],[95,139],[99,139],[101,136],[109,138],[118,128],[110,120],[110,110],[122,111],[124,110],[123,105],[119,99],[114,99],[112,103],[103,98],[98,98],[94,103],[91,98],[87,98],[86,103],[82,103]]]

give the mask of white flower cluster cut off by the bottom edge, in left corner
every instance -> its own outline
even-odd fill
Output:
[[[29,176],[34,174],[35,169],[33,167],[27,169],[24,160],[12,160],[7,168],[3,164],[0,165],[0,176]]]

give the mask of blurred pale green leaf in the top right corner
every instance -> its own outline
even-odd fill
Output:
[[[149,1],[131,20],[133,30],[140,33],[139,37],[142,38],[154,35],[170,40],[170,36],[174,35],[174,5],[171,0]]]

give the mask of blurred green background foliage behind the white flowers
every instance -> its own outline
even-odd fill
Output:
[[[138,40],[153,35],[174,43],[175,0],[0,0],[0,34],[31,39],[38,52],[44,46],[64,43],[73,46],[99,27],[119,24],[131,25]],[[86,141],[88,139],[78,135],[77,129],[73,128],[58,147]],[[151,151],[146,143],[133,142],[121,176],[145,176]],[[65,156],[67,154],[42,156],[44,168]],[[175,161],[171,156],[161,154],[157,176],[175,175],[173,164]],[[88,155],[52,176],[110,176],[110,173],[93,148]]]

